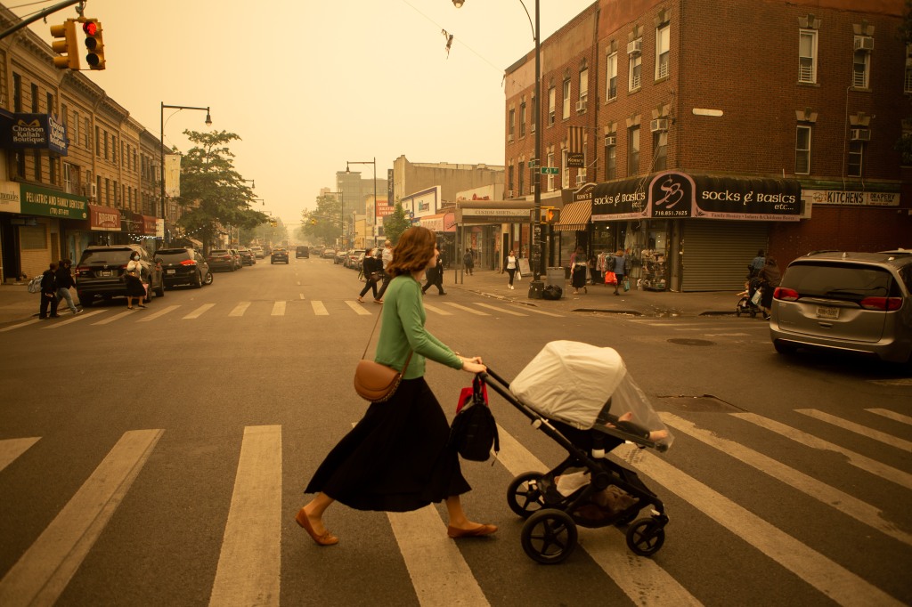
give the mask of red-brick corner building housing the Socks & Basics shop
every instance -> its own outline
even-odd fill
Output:
[[[735,289],[763,249],[912,245],[894,149],[902,0],[600,0],[542,43],[551,263],[626,249],[647,288]],[[507,69],[507,196],[531,199],[534,52]],[[906,123],[907,124],[907,123]]]

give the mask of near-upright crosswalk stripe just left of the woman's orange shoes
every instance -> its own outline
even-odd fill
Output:
[[[244,428],[210,605],[278,605],[282,427]]]

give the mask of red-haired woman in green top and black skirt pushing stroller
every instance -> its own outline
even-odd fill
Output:
[[[462,476],[459,454],[449,445],[450,424],[424,379],[427,358],[472,375],[487,370],[481,356],[453,352],[424,327],[421,275],[435,263],[434,232],[409,228],[387,266],[393,275],[389,305],[383,306],[375,358],[405,367],[393,396],[371,403],[367,413],[316,468],[305,493],[316,493],[295,521],[318,546],[338,543],[323,524],[335,501],[349,508],[409,512],[445,501],[447,536],[456,540],[491,535],[495,525],[466,517],[460,496],[472,490]],[[408,365],[406,361],[408,360]],[[365,538],[365,541],[372,541]]]

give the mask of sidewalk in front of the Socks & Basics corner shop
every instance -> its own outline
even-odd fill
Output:
[[[529,299],[529,282],[531,277],[523,276],[522,281],[514,281],[513,290],[507,289],[506,273],[492,270],[476,271],[472,276],[461,276],[462,283],[454,284],[460,277],[453,269],[446,271],[443,288],[460,289],[510,301],[515,304],[531,305],[540,310],[553,312],[602,312],[613,314],[635,314],[639,316],[699,316],[710,314],[734,314],[738,303],[736,291],[716,291],[708,293],[673,293],[670,291],[637,291],[631,290],[615,295],[614,285],[590,284],[588,293],[582,290],[574,295],[570,282],[566,282],[564,297],[559,301]],[[544,277],[543,277],[544,278]],[[430,304],[439,295],[431,287],[425,295]],[[445,296],[444,296],[445,297]]]

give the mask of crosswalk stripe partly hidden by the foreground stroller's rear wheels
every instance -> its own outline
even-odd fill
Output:
[[[501,441],[501,451],[497,459],[513,476],[519,476],[523,472],[545,472],[550,469],[503,427],[498,426],[497,432]],[[635,604],[648,604],[649,607],[700,605],[700,601],[667,571],[659,567],[656,561],[631,557],[623,540],[624,535],[617,528],[579,528],[578,531],[580,537],[586,540],[586,544],[581,547]],[[606,540],[601,537],[596,540],[597,536],[612,535],[617,536],[617,539]],[[590,541],[593,542],[592,550]],[[623,548],[612,544],[623,544]]]

